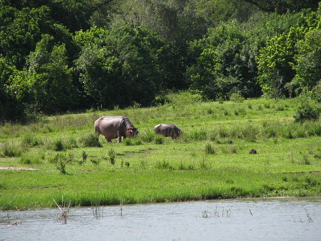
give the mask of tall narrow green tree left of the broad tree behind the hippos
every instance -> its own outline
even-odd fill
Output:
[[[77,106],[77,89],[72,84],[65,44],[43,35],[28,58],[28,73],[35,95],[35,108],[45,113],[72,110]]]

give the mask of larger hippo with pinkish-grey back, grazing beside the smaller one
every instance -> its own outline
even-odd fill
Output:
[[[130,123],[129,119],[121,115],[101,116],[95,121],[94,129],[95,134],[103,135],[107,142],[118,138],[117,143],[120,143],[121,137],[133,137],[138,134],[137,128]]]

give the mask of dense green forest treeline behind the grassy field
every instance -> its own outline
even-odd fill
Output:
[[[321,102],[321,4],[305,0],[0,0],[0,123],[205,100]]]

